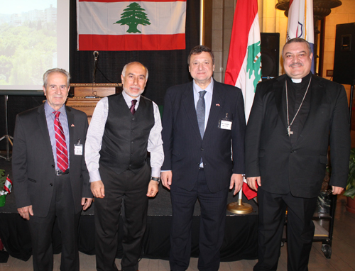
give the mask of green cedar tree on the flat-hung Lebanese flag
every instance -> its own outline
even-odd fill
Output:
[[[121,23],[121,26],[129,26],[127,33],[141,33],[141,31],[138,31],[138,24],[143,26],[151,24],[147,14],[143,11],[146,10],[142,9],[138,3],[131,3],[127,6],[127,9],[124,9],[124,13],[121,14],[121,20],[116,21],[116,23]]]

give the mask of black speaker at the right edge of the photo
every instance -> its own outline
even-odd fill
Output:
[[[337,24],[333,81],[355,84],[355,23]]]

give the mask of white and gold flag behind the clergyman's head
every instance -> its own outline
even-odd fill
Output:
[[[310,43],[313,53],[311,71],[315,74],[315,25],[313,23],[313,0],[290,0],[287,40],[290,40],[291,38],[304,38]]]

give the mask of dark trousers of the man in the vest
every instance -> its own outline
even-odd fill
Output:
[[[131,170],[117,175],[113,170],[100,165],[105,197],[95,199],[96,262],[97,270],[117,270],[117,236],[121,204],[124,206],[124,254],[121,269],[138,270],[141,257],[142,239],[146,231],[148,182],[151,171],[145,165],[136,175]],[[122,202],[123,201],[123,202]]]

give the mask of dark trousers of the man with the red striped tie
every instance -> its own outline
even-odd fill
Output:
[[[30,216],[28,225],[32,238],[33,270],[53,270],[52,231],[55,218],[62,240],[60,270],[79,271],[77,228],[80,212],[75,214],[69,175],[56,176],[48,216]],[[40,195],[38,195],[40,197]]]

